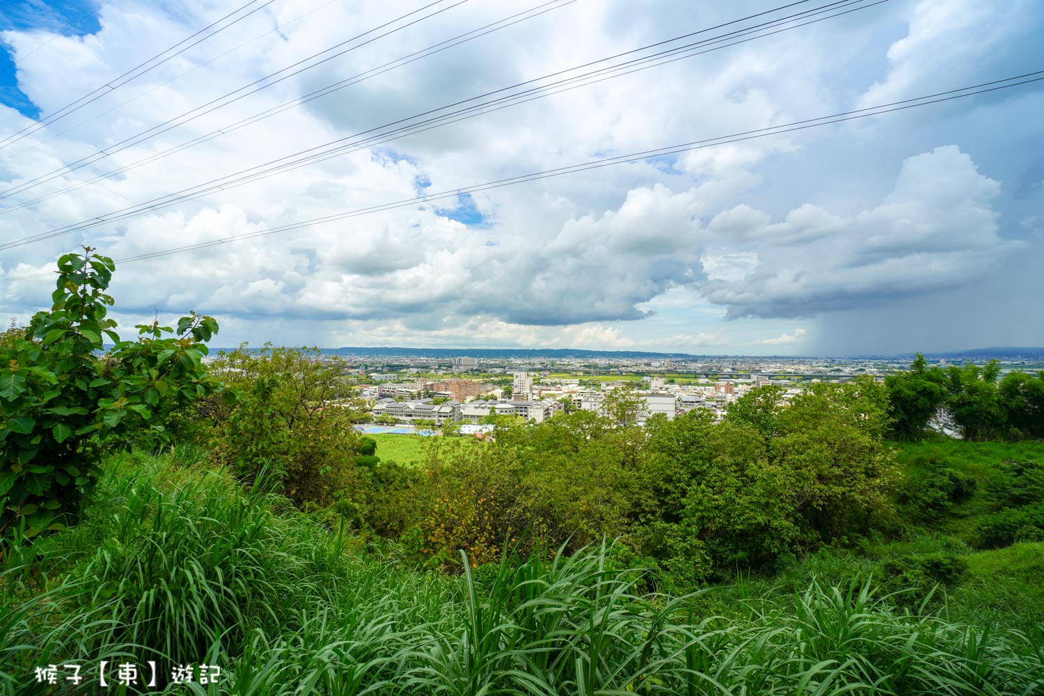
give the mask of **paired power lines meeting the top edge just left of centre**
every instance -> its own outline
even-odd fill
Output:
[[[275,0],[268,0],[268,2],[274,2],[274,1]],[[156,138],[157,136],[163,135],[164,133],[167,133],[168,130],[171,130],[173,128],[176,128],[180,125],[183,125],[184,123],[188,123],[189,121],[195,120],[195,119],[199,118],[200,116],[205,116],[205,115],[207,115],[207,114],[209,114],[209,113],[211,113],[213,111],[216,111],[216,110],[221,109],[223,106],[227,106],[227,105],[229,105],[231,103],[239,101],[240,99],[248,97],[252,94],[256,94],[257,92],[260,92],[261,90],[266,90],[266,89],[268,89],[269,87],[271,87],[274,85],[278,85],[278,83],[282,82],[285,79],[289,79],[290,77],[293,77],[294,75],[298,75],[300,73],[305,72],[306,70],[311,70],[312,68],[321,66],[324,63],[327,63],[327,62],[332,61],[332,59],[334,59],[334,58],[336,58],[336,57],[338,57],[340,55],[343,55],[345,53],[348,53],[350,51],[354,51],[355,49],[361,48],[363,46],[366,46],[367,44],[372,44],[373,42],[377,41],[378,39],[382,39],[384,37],[393,34],[396,31],[401,31],[402,29],[405,29],[408,26],[412,26],[412,25],[414,25],[414,24],[417,24],[419,22],[423,22],[426,19],[434,17],[435,15],[441,15],[444,11],[447,11],[449,9],[452,9],[454,7],[462,5],[464,3],[468,2],[469,0],[457,0],[452,5],[449,5],[447,7],[443,7],[441,9],[437,9],[437,10],[431,13],[430,15],[426,15],[424,17],[416,19],[412,22],[408,22],[408,23],[406,23],[406,24],[404,24],[402,26],[396,27],[395,29],[392,29],[389,31],[385,31],[384,33],[378,34],[378,35],[376,35],[376,37],[374,37],[372,39],[369,39],[369,40],[362,42],[361,44],[357,44],[355,46],[351,46],[350,48],[346,48],[345,50],[341,50],[341,51],[339,51],[337,53],[333,53],[332,55],[328,55],[327,57],[323,58],[322,61],[318,61],[317,63],[314,63],[314,64],[312,64],[310,66],[305,67],[305,68],[302,68],[301,70],[296,70],[294,72],[291,72],[291,73],[289,73],[287,75],[283,75],[279,79],[272,80],[270,82],[266,82],[266,80],[269,80],[272,77],[275,77],[276,75],[284,73],[287,70],[290,70],[291,68],[295,68],[295,67],[298,67],[298,66],[300,66],[300,65],[302,65],[304,63],[307,63],[307,62],[309,62],[309,61],[311,61],[313,58],[318,57],[319,55],[323,55],[324,53],[329,53],[330,51],[333,51],[336,48],[340,48],[341,46],[345,46],[347,44],[351,44],[352,42],[355,42],[355,41],[357,41],[357,40],[359,40],[359,39],[361,39],[361,38],[363,38],[363,37],[365,37],[367,34],[373,33],[374,31],[377,31],[378,29],[382,29],[382,28],[384,28],[386,26],[389,26],[392,24],[400,22],[400,21],[402,21],[404,19],[409,18],[412,15],[416,15],[417,13],[423,11],[425,9],[428,9],[429,7],[432,7],[434,5],[441,4],[441,3],[446,2],[446,1],[447,0],[435,0],[434,2],[431,2],[431,3],[429,3],[429,4],[427,4],[427,5],[423,6],[423,7],[421,7],[419,9],[414,9],[413,11],[407,13],[406,15],[403,15],[401,17],[397,17],[396,19],[394,19],[394,20],[392,20],[389,22],[385,22],[384,24],[381,24],[380,26],[374,27],[373,29],[370,29],[367,31],[363,31],[360,34],[357,34],[355,37],[352,37],[351,39],[342,41],[339,44],[336,44],[336,45],[334,45],[334,46],[332,46],[330,48],[327,48],[327,49],[325,49],[323,51],[319,51],[318,53],[313,53],[312,55],[308,56],[307,58],[299,61],[299,62],[294,63],[293,65],[287,66],[286,68],[283,68],[282,70],[279,70],[277,72],[271,73],[270,75],[265,75],[264,77],[256,79],[253,82],[251,82],[250,85],[245,85],[245,86],[239,88],[238,90],[234,90],[232,92],[229,92],[228,94],[224,94],[224,95],[221,95],[220,97],[217,97],[216,99],[212,99],[212,100],[208,101],[205,104],[201,104],[199,106],[196,106],[195,109],[192,109],[192,110],[189,110],[189,111],[185,112],[184,114],[181,114],[180,116],[175,116],[173,118],[167,119],[166,121],[163,121],[162,123],[158,123],[157,125],[153,125],[151,128],[147,128],[145,130],[142,130],[141,133],[137,134],[137,135],[134,135],[134,136],[130,136],[129,138],[125,138],[125,139],[119,141],[118,143],[114,143],[113,145],[110,145],[109,147],[105,147],[105,148],[102,148],[100,150],[97,150],[93,154],[89,154],[86,158],[81,158],[81,159],[79,159],[79,160],[77,160],[77,161],[75,161],[75,162],[73,162],[73,163],[71,163],[69,165],[65,165],[63,167],[58,167],[57,169],[54,169],[53,171],[47,172],[46,174],[41,174],[37,178],[30,179],[30,181],[25,182],[25,183],[23,183],[23,184],[21,184],[21,185],[19,185],[17,187],[14,187],[14,188],[7,189],[7,190],[5,190],[3,192],[0,192],[0,193],[3,194],[2,196],[0,196],[0,198],[6,197],[7,195],[11,195],[14,193],[19,193],[21,191],[25,191],[25,190],[27,190],[29,188],[32,188],[37,184],[42,184],[42,183],[44,183],[46,181],[50,181],[52,178],[61,176],[64,173],[67,173],[67,172],[70,172],[70,171],[75,171],[76,169],[80,169],[80,168],[86,167],[88,165],[94,164],[95,162],[103,160],[103,159],[105,159],[105,158],[108,158],[108,157],[110,157],[112,154],[115,154],[117,152],[125,150],[125,149],[127,149],[129,147],[133,147],[135,145],[139,145],[139,144],[141,144],[141,143],[143,143],[143,142],[145,142],[147,140],[151,140],[152,138]],[[259,85],[261,82],[266,82],[266,83],[265,85],[261,85],[261,87],[258,87],[257,89],[251,90],[250,92],[246,92],[245,94],[240,94],[239,96],[237,96],[237,97],[235,97],[233,99],[229,99],[229,97],[232,97],[233,95],[236,95],[236,94],[242,92],[243,90],[248,90],[250,88],[254,87],[255,85]],[[224,99],[229,99],[229,100],[228,101],[223,101]],[[217,102],[222,102],[222,103],[217,103]],[[215,106],[213,104],[217,104],[217,105]],[[208,106],[211,106],[211,107],[207,109]],[[206,110],[206,111],[201,111],[200,112],[200,110]],[[196,113],[196,112],[199,112],[199,113]],[[191,118],[185,119],[185,117],[188,116],[189,114],[194,114],[194,116],[191,116]],[[181,119],[185,119],[185,120],[181,120]]]

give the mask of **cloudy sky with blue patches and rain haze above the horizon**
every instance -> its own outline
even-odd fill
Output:
[[[1042,71],[1040,2],[857,0],[820,22],[396,134],[386,128],[480,95],[829,0],[244,3],[0,4],[0,245],[95,221],[0,248],[0,317],[49,307],[48,271],[88,244],[118,261],[110,291],[124,337],[195,311],[218,319],[224,346],[1044,345],[1044,81],[470,191]],[[352,147],[197,188],[335,141]],[[185,191],[201,195],[105,219]],[[434,193],[446,196],[420,199]],[[352,211],[366,212],[296,224]]]

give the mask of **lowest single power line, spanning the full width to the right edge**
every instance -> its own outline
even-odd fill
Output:
[[[555,169],[546,169],[539,172],[532,172],[529,174],[521,174],[519,176],[512,176],[507,178],[496,179],[493,182],[487,182],[484,184],[478,184],[475,186],[452,189],[447,191],[442,191],[440,193],[426,194],[421,196],[416,196],[413,198],[407,198],[403,200],[392,201],[387,203],[381,203],[377,206],[371,206],[367,208],[355,209],[352,211],[347,211],[343,213],[336,213],[333,215],[327,215],[324,217],[317,217],[310,220],[304,220],[300,222],[292,222],[285,225],[280,225],[277,227],[269,227],[267,230],[260,230],[257,232],[244,233],[241,235],[234,235],[231,237],[224,237],[221,239],[215,239],[208,242],[199,242],[196,244],[188,244],[185,246],[176,246],[168,249],[162,249],[158,251],[151,251],[147,254],[140,254],[138,256],[125,257],[118,259],[117,263],[130,263],[134,261],[143,261],[146,259],[155,259],[164,256],[170,256],[174,254],[183,254],[185,251],[191,251],[201,248],[208,248],[211,246],[218,246],[220,244],[228,244],[232,242],[242,241],[245,239],[255,239],[258,237],[265,237],[268,235],[275,235],[283,232],[290,232],[293,230],[300,230],[303,227],[309,227],[317,224],[326,224],[328,222],[335,222],[339,220],[345,220],[353,217],[360,217],[363,215],[372,215],[375,213],[382,213],[390,210],[396,210],[399,208],[407,208],[411,206],[417,206],[421,203],[431,202],[435,200],[443,200],[446,198],[454,198],[462,194],[479,193],[482,191],[490,191],[493,189],[499,189],[507,186],[515,186],[517,184],[524,184],[528,182],[536,182],[545,178],[551,178],[554,176],[563,176],[565,174],[573,174],[583,171],[590,171],[593,169],[600,169],[602,167],[610,167],[620,164],[631,164],[635,162],[642,162],[652,158],[668,157],[671,154],[680,154],[683,152],[689,152],[692,150],[705,149],[709,147],[716,147],[719,145],[727,145],[731,143],[743,142],[748,140],[755,140],[759,138],[766,138],[769,136],[783,135],[787,133],[794,133],[799,130],[805,130],[808,128],[820,127],[824,125],[830,125],[834,123],[841,123],[846,121],[853,121],[857,119],[868,118],[871,116],[880,116],[883,114],[888,114],[893,112],[905,111],[908,109],[916,109],[919,106],[927,106],[929,104],[935,104],[946,101],[951,101],[954,99],[964,99],[967,97],[972,97],[979,94],[987,94],[990,92],[997,92],[999,90],[1006,90],[1014,87],[1019,87],[1023,85],[1029,85],[1034,82],[1039,82],[1044,80],[1044,70],[1039,70],[1030,73],[1025,73],[1023,75],[1017,75],[1014,77],[1005,77],[1003,79],[992,80],[989,82],[981,82],[979,85],[973,85],[971,87],[959,88],[956,90],[949,90],[946,92],[938,92],[935,94],[924,95],[921,97],[914,97],[910,99],[904,99],[902,101],[894,101],[886,104],[879,104],[877,106],[868,106],[865,109],[858,109],[849,112],[841,112],[839,114],[833,114],[830,116],[822,116],[817,118],[804,119],[801,121],[793,121],[790,123],[785,123],[776,126],[767,126],[764,128],[756,128],[753,130],[744,130],[729,136],[720,136],[717,138],[708,138],[703,140],[690,141],[687,143],[680,143],[677,145],[668,145],[666,147],[660,147],[650,150],[642,150],[639,152],[631,152],[628,154],[621,154],[613,158],[604,158],[601,160],[594,160],[590,162],[585,162],[577,165],[571,165],[567,167],[559,167]],[[10,283],[14,281],[29,280],[35,278],[48,278],[53,277],[53,272],[42,272],[32,273],[28,275],[19,275],[16,278],[0,279],[0,283]]]

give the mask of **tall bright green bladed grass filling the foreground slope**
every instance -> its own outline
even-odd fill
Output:
[[[725,617],[642,593],[604,546],[419,573],[188,460],[114,460],[80,525],[4,550],[0,693],[97,693],[98,662],[127,658],[223,669],[157,692],[244,696],[1044,692],[1044,635],[899,609],[869,581],[748,582]],[[70,661],[78,688],[34,682]]]

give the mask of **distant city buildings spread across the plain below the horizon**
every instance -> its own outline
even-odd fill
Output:
[[[782,357],[626,357],[587,352],[577,357],[532,355],[330,355],[338,361],[376,423],[443,427],[447,423],[479,424],[490,415],[513,415],[537,423],[566,410],[601,409],[614,389],[631,387],[644,401],[644,418],[674,418],[694,408],[721,418],[729,405],[751,389],[774,384],[784,400],[810,384],[839,382],[859,376],[883,380],[905,369],[901,358]],[[393,349],[394,351],[394,349]],[[976,360],[975,362],[982,362]],[[941,365],[963,360],[938,358]],[[1000,360],[1001,373],[1044,369],[1044,351]]]

